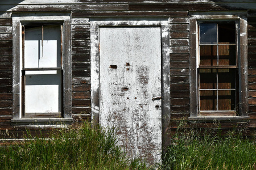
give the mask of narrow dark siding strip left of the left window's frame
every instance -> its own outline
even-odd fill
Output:
[[[13,25],[10,15],[0,15],[0,130],[13,118]]]

